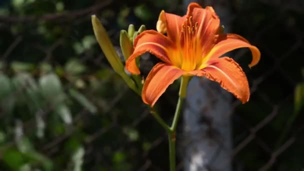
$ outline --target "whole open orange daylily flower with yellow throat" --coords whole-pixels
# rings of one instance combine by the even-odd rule
[[[224,53],[248,47],[252,53],[249,67],[257,64],[260,52],[237,34],[222,33],[219,18],[212,7],[197,3],[188,5],[184,16],[160,12],[156,28],[140,33],[134,40],[134,51],[126,61],[132,74],[140,71],[135,58],[150,52],[163,62],[149,72],[142,88],[143,102],[153,106],[165,89],[181,75],[205,76],[217,81],[242,103],[249,99],[249,86],[241,67]],[[166,35],[162,34],[166,33]]]

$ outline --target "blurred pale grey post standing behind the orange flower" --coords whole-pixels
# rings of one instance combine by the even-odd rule
[[[185,9],[191,1],[194,0],[183,0]],[[200,5],[211,5],[225,32],[230,31],[225,21],[229,22],[232,17],[225,0],[203,0]],[[231,99],[231,94],[217,82],[199,77],[193,77],[189,82],[183,110],[183,133],[178,140],[184,170],[231,170]]]

